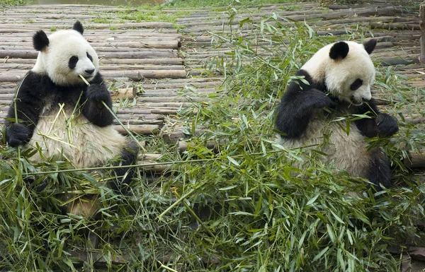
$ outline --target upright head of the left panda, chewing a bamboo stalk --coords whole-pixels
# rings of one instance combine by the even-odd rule
[[[46,74],[53,83],[62,86],[82,85],[98,73],[99,61],[93,47],[83,37],[83,25],[77,20],[72,30],[60,30],[47,37],[39,30],[33,36],[33,45],[39,51],[32,69]]]

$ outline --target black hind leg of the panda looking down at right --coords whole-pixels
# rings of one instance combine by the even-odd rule
[[[376,191],[382,191],[382,187],[390,188],[391,167],[390,160],[379,149],[370,150],[370,165],[368,179],[375,185]]]

